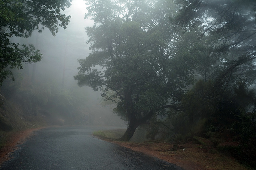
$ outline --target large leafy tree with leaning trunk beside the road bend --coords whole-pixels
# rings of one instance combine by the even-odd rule
[[[79,86],[101,90],[128,121],[121,140],[164,108],[175,107],[189,82],[188,56],[174,57],[178,33],[169,21],[169,0],[88,0],[95,24],[86,27],[92,53],[80,59]],[[110,91],[114,93],[109,93]]]

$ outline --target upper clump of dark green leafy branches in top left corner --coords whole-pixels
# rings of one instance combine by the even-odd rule
[[[44,27],[55,35],[58,26],[65,29],[70,19],[70,16],[61,14],[61,10],[71,6],[69,0],[1,0],[0,3],[1,30],[8,27],[10,36],[29,37],[35,29],[42,31]],[[40,25],[43,27],[40,28]]]

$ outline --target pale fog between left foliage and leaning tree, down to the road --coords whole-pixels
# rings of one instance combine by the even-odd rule
[[[65,124],[68,125],[76,123],[86,125],[126,125],[124,121],[112,112],[113,106],[103,106],[100,92],[94,92],[92,88],[86,86],[78,87],[77,82],[74,80],[79,67],[77,60],[85,59],[90,53],[90,45],[86,44],[88,37],[85,27],[94,24],[92,20],[84,19],[84,14],[86,13],[84,1],[73,0],[72,6],[63,13],[66,16],[71,16],[70,23],[67,29],[59,27],[56,36],[53,36],[45,28],[42,33],[34,31],[32,36],[27,39],[17,37],[11,39],[12,42],[20,44],[33,44],[42,53],[40,62],[23,64],[22,70],[14,70],[14,78],[16,79],[14,83],[22,82],[20,87],[23,90],[29,88],[36,91],[36,88],[39,88],[40,92],[38,94],[40,98],[47,96],[38,100],[39,102],[42,101],[40,104],[36,104],[38,106],[38,111],[36,112],[39,115],[42,114],[49,117],[49,119],[54,119],[48,120],[50,124],[58,124],[59,122],[56,119],[64,119]],[[19,76],[21,74],[22,76]],[[33,82],[33,88],[31,88],[30,82]],[[10,83],[9,79],[5,80],[2,91],[8,89],[8,86],[11,86]],[[47,90],[41,92],[42,89]],[[62,102],[62,105],[66,105],[66,107],[60,108],[61,104],[57,106],[58,103],[54,101],[58,98],[56,97],[57,91],[60,95],[65,95],[67,92],[68,99],[73,100],[68,102],[72,104],[67,106],[65,102]],[[75,94],[79,96],[74,96]],[[5,96],[8,98],[7,92]],[[62,111],[66,113],[62,113]],[[70,121],[70,116],[72,116],[72,121]],[[83,118],[81,119],[81,117]]]

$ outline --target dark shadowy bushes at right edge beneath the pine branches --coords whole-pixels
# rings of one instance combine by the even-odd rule
[[[182,111],[170,111],[168,119],[174,133],[206,135],[217,146],[224,138],[240,136],[242,143],[255,138],[255,92],[236,84],[222,95],[213,82],[199,80],[182,98]],[[253,111],[253,113],[248,113]],[[229,134],[213,135],[213,133]],[[231,133],[232,132],[232,133]],[[211,134],[211,135],[210,135]]]

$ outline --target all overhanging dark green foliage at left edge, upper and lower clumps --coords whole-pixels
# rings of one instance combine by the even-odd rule
[[[61,14],[71,0],[0,0],[0,85],[12,68],[22,69],[22,63],[36,63],[41,54],[33,45],[12,43],[11,37],[30,37],[34,30],[48,28],[53,35],[66,26],[70,16]],[[14,77],[12,76],[14,79]]]

